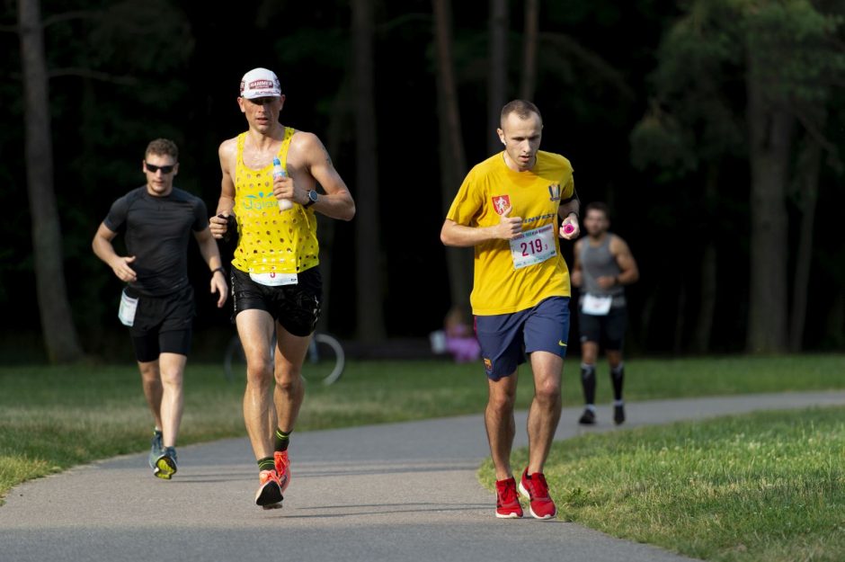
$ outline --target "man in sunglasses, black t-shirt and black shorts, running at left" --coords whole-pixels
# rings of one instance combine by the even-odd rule
[[[209,231],[205,203],[173,187],[179,152],[171,140],[149,143],[142,170],[147,184],[111,205],[93,237],[93,252],[128,283],[120,298],[120,321],[129,326],[144,395],[156,420],[149,463],[156,477],[176,472],[176,436],[182,421],[182,373],[191,350],[193,289],[188,280],[191,232],[211,270],[218,307],[226,302],[226,272]],[[129,255],[111,241],[122,234]]]

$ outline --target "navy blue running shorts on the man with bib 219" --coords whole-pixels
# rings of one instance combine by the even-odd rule
[[[569,340],[569,297],[549,297],[533,308],[511,314],[476,316],[487,378],[511,375],[526,361],[526,353],[566,356]]]

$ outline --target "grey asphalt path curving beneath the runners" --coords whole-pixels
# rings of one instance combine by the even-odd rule
[[[622,427],[834,405],[845,392],[633,403]],[[610,406],[595,428],[580,427],[580,414],[564,409],[556,439],[616,431]],[[521,447],[524,412],[517,424]],[[0,562],[689,560],[527,512],[496,519],[476,479],[488,454],[481,415],[294,433],[284,507],[268,511],[254,505],[246,438],[179,448],[171,481],[151,475],[146,453],[104,460],[13,488],[0,506]]]

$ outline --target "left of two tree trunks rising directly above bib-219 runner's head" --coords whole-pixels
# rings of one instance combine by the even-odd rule
[[[508,80],[508,2],[490,0],[490,22],[487,48],[487,154],[502,150],[496,134],[502,107],[507,103]]]

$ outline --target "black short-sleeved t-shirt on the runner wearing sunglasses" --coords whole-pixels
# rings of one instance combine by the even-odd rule
[[[180,189],[154,197],[144,185],[114,201],[103,221],[112,232],[122,233],[129,266],[138,281],[129,283],[142,295],[161,297],[181,290],[188,280],[188,239],[191,230],[209,227],[205,203]]]

